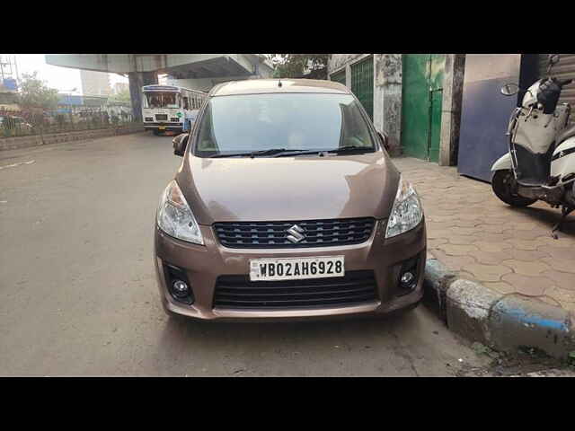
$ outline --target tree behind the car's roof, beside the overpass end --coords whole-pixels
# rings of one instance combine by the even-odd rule
[[[268,54],[275,65],[274,78],[327,79],[330,54]]]

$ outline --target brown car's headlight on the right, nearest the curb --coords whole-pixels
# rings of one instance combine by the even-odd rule
[[[385,238],[391,238],[413,229],[420,223],[422,217],[423,209],[420,198],[411,184],[403,180],[403,176],[401,176],[392,214],[387,222]]]

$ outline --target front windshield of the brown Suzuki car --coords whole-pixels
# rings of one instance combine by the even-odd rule
[[[374,151],[374,140],[349,94],[272,93],[208,101],[194,154],[200,157],[269,150]],[[273,154],[273,152],[271,152]]]

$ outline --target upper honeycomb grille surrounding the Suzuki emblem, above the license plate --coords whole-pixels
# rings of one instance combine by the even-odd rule
[[[288,240],[288,229],[295,224],[304,230],[302,235],[305,237],[296,243]],[[222,245],[235,249],[326,247],[366,242],[374,224],[375,220],[371,217],[293,222],[225,222],[214,224],[214,231]]]

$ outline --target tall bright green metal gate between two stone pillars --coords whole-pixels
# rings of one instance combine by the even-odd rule
[[[439,160],[445,54],[404,54],[402,95],[403,153]]]

